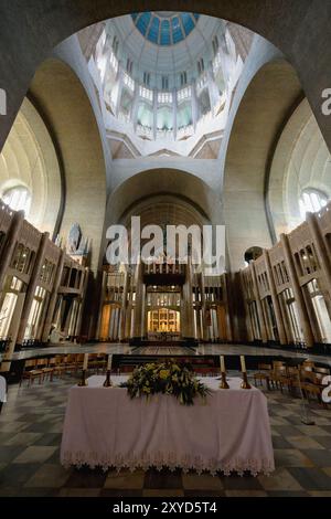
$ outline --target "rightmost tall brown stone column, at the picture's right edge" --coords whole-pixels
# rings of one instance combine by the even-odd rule
[[[308,213],[307,214],[307,223],[309,225],[309,231],[313,239],[313,244],[316,248],[316,253],[318,256],[319,264],[323,271],[324,277],[324,287],[321,287],[325,300],[325,305],[328,308],[329,317],[331,319],[331,260],[328,253],[325,242],[321,234],[319,221],[316,214]],[[323,288],[325,288],[323,290]]]

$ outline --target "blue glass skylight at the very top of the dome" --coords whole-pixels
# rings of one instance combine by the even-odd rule
[[[156,45],[175,45],[195,28],[199,14],[191,12],[140,12],[131,14],[138,31]]]

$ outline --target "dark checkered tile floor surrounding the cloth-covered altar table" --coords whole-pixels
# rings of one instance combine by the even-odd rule
[[[269,477],[65,470],[60,444],[73,383],[68,375],[32,388],[10,388],[0,414],[0,496],[331,497],[331,410],[310,404],[316,425],[303,425],[300,400],[278,391],[266,392],[276,460]]]

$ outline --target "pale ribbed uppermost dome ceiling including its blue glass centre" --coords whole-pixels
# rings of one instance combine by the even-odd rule
[[[212,60],[212,40],[222,28],[223,20],[186,12],[142,12],[107,21],[107,31],[118,35],[136,72],[157,74],[195,71],[201,56]]]

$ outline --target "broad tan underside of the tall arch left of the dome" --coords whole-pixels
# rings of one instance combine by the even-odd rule
[[[99,264],[106,208],[106,169],[102,140],[86,92],[72,68],[49,59],[29,91],[52,133],[64,180],[64,212],[60,235],[73,223],[92,240],[92,269]]]

